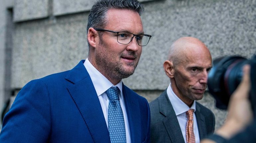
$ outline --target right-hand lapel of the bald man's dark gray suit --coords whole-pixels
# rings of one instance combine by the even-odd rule
[[[197,105],[196,102],[196,110],[195,110],[195,117],[196,117],[196,122],[197,122],[197,127],[199,131],[199,137],[204,138],[207,133],[206,133],[206,125],[205,125],[205,118],[200,112],[200,107]]]

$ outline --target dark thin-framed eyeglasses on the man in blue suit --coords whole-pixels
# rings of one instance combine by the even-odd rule
[[[124,45],[129,44],[132,41],[133,37],[135,37],[139,46],[146,46],[148,44],[150,38],[152,37],[151,35],[147,35],[147,34],[136,35],[136,34],[132,34],[129,32],[115,32],[115,31],[99,29],[99,28],[95,28],[95,30],[116,33],[117,34],[117,42],[120,44],[124,44]]]

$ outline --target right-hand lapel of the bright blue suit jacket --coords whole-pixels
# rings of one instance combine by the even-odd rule
[[[130,127],[131,141],[132,143],[139,143],[141,142],[141,117],[139,111],[139,103],[136,98],[133,98],[133,93],[127,90],[127,87],[125,87],[124,85],[123,96],[125,100],[125,109]]]

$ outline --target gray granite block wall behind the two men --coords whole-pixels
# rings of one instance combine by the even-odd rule
[[[256,54],[256,0],[141,2],[145,5],[141,17],[144,31],[152,39],[143,47],[135,73],[123,82],[149,102],[169,85],[163,62],[171,44],[180,37],[200,39],[213,58],[234,54],[249,58]],[[33,79],[69,70],[87,57],[86,26],[92,5],[90,0],[14,0],[10,90],[17,91]],[[0,8],[7,11],[6,6]],[[7,27],[0,22],[0,36]],[[2,50],[6,38],[0,38],[1,54],[6,55]],[[0,73],[7,66],[0,62]],[[1,74],[0,105],[4,97],[10,96],[3,93],[6,80]],[[199,102],[215,113],[216,128],[223,124],[226,112],[214,107],[208,93]]]

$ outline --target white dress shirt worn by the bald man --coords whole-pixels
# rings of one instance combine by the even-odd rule
[[[193,102],[191,108],[185,104],[174,92],[173,89],[171,87],[171,84],[168,86],[167,88],[167,95],[169,100],[171,101],[171,104],[173,105],[173,109],[175,111],[176,117],[178,119],[178,122],[180,124],[181,127],[181,131],[182,131],[182,135],[184,138],[185,143],[187,143],[187,139],[186,139],[186,126],[187,126],[187,122],[188,122],[188,116],[186,114],[186,112],[189,109],[194,109],[195,112],[195,101]],[[200,138],[199,138],[199,132],[198,132],[198,127],[197,127],[197,122],[196,122],[196,117],[195,117],[195,113],[193,114],[193,127],[194,127],[194,135],[195,135],[195,143],[199,143],[200,142]]]

